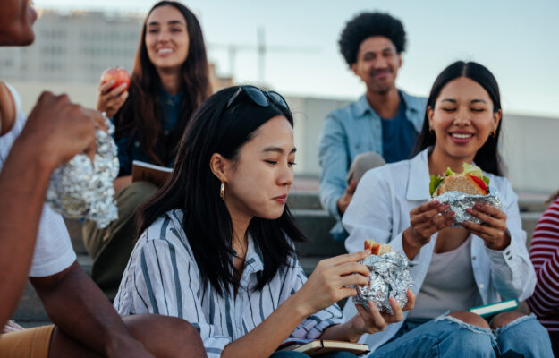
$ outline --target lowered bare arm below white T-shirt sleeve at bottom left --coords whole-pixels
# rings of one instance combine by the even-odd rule
[[[77,262],[50,277],[30,277],[56,327],[107,357],[151,357],[131,337],[106,296]]]

